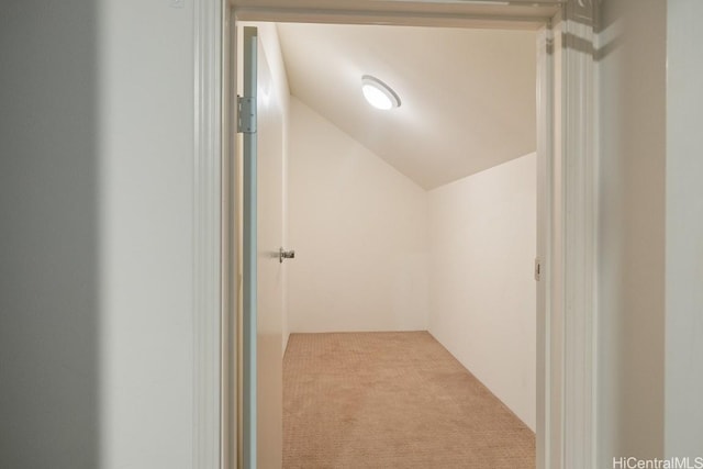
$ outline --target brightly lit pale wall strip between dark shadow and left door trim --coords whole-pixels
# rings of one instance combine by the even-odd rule
[[[192,3],[101,3],[102,467],[192,459]]]

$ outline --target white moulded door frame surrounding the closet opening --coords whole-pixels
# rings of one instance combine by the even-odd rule
[[[301,1],[301,7],[286,9],[238,9],[237,5],[252,2],[237,0],[233,4],[227,0],[193,2],[193,467],[230,469],[236,465],[236,270],[231,216],[232,131],[225,130],[231,130],[234,112],[227,86],[236,66],[230,57],[233,9],[238,19],[246,20],[483,27],[516,21],[525,24],[527,20],[511,14],[510,5],[502,8],[504,14],[496,14],[495,7],[490,7],[490,15],[479,11],[466,16],[443,16],[404,7],[410,3],[399,3],[394,13],[365,10],[365,5],[373,3],[371,0],[347,2],[350,7],[344,11],[334,10],[339,0]],[[437,5],[436,1],[426,3],[427,8]],[[549,52],[538,54],[537,90],[538,175],[544,189],[538,216],[545,234],[537,246],[543,266],[538,314],[544,315],[544,327],[538,330],[537,467],[578,469],[593,466],[596,449],[596,4],[594,0],[550,3],[561,4],[554,18],[542,20],[539,32],[542,51]]]

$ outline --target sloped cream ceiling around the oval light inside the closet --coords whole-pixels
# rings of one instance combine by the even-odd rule
[[[536,33],[278,24],[291,94],[425,189],[535,150]],[[371,108],[361,76],[402,104]]]

